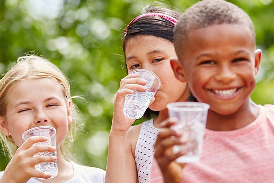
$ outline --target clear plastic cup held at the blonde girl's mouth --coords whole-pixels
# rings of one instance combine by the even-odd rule
[[[43,144],[43,145],[50,145],[50,146],[56,147],[55,134],[56,134],[55,128],[51,126],[39,126],[39,127],[31,128],[25,131],[22,134],[22,138],[26,141],[28,138],[32,136],[46,136],[48,137],[48,140],[46,142],[38,142],[33,144],[33,146]],[[56,150],[55,152],[39,152],[35,154],[33,157],[36,157],[36,156],[57,156],[57,152]],[[57,161],[37,164],[35,165],[35,169],[40,172],[51,174],[51,178],[56,177],[58,174]],[[39,178],[39,179],[43,179],[43,178]]]

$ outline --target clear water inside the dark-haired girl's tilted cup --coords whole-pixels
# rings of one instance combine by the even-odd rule
[[[124,114],[131,119],[140,119],[152,101],[155,92],[134,92],[127,94],[124,104]]]

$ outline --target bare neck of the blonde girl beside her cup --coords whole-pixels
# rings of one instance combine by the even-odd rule
[[[72,164],[67,162],[61,153],[61,148],[57,147],[57,166],[58,166],[58,175],[55,178],[40,180],[35,178],[36,180],[44,183],[57,183],[57,182],[67,182],[74,175],[74,170]]]

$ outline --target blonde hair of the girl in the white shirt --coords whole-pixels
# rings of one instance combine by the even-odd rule
[[[7,90],[20,81],[25,79],[40,79],[52,78],[58,81],[63,86],[64,98],[71,99],[70,84],[64,73],[53,63],[43,57],[35,55],[23,56],[17,59],[13,67],[0,80],[0,116],[6,114],[6,100],[5,95]],[[79,122],[79,112],[77,107],[72,103],[70,108],[72,122],[68,126],[68,133],[61,145],[61,153],[64,158],[71,160],[73,158],[70,153],[70,147],[76,138],[77,131],[82,129],[83,124]],[[3,147],[3,152],[11,159],[17,150],[17,146],[13,142],[11,136],[5,136],[0,133],[0,141]]]

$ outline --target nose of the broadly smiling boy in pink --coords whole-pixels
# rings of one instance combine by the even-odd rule
[[[236,78],[236,73],[229,66],[220,66],[218,72],[215,75],[216,81],[223,83],[230,83]]]

